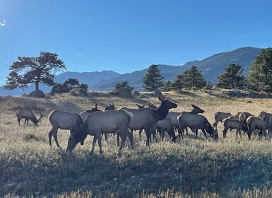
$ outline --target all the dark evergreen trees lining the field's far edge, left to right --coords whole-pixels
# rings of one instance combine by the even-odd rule
[[[64,62],[58,55],[50,52],[40,52],[39,57],[18,57],[16,62],[9,67],[10,73],[6,78],[5,89],[27,88],[35,84],[35,91],[39,91],[40,83],[52,86],[52,93],[81,93],[87,94],[88,85],[80,84],[77,79],[69,78],[64,83],[54,82],[56,72],[66,69]],[[173,81],[162,81],[163,76],[158,66],[153,64],[143,76],[142,86],[145,91],[171,91],[186,89],[211,89],[213,85],[206,81],[201,71],[192,66],[182,74],[177,74]],[[127,81],[117,83],[115,90],[120,87],[133,90]],[[255,57],[248,76],[240,64],[229,64],[223,73],[218,76],[215,84],[218,88],[247,88],[252,91],[272,92],[272,48],[268,47],[259,52]]]

